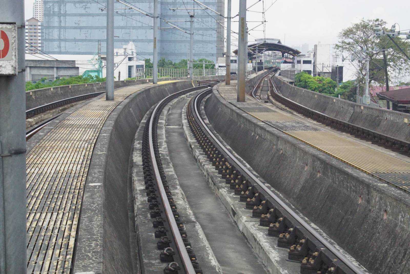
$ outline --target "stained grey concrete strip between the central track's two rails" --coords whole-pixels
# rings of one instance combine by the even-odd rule
[[[177,103],[166,120],[169,157],[180,187],[201,225],[224,273],[266,273],[262,263],[246,242],[229,212],[208,186],[185,141],[182,129],[182,107]]]

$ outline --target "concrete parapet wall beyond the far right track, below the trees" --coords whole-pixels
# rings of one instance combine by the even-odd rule
[[[330,117],[410,142],[410,114],[360,105],[347,100],[294,87],[280,78],[273,81],[286,98]]]

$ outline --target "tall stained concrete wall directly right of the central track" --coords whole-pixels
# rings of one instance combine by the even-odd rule
[[[215,89],[205,111],[241,158],[371,273],[408,272],[408,194],[244,115]]]

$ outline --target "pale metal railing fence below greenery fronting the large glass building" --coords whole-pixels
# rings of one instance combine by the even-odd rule
[[[225,75],[226,69],[194,69],[194,78]],[[158,78],[189,78],[189,69],[158,69]],[[137,69],[135,79],[153,78],[153,69]]]

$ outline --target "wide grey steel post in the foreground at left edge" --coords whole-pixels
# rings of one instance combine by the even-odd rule
[[[6,3],[7,2],[7,3]],[[0,75],[0,273],[27,273],[24,1],[2,1],[17,27],[17,75]],[[11,50],[11,47],[10,47]],[[2,62],[2,61],[0,61]]]

